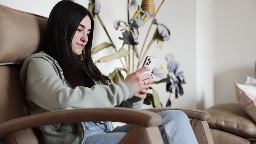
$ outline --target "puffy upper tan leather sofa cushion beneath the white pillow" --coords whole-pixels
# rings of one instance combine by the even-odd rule
[[[256,137],[256,123],[240,104],[217,104],[205,111],[211,115],[207,121],[210,128],[233,133],[243,138]]]

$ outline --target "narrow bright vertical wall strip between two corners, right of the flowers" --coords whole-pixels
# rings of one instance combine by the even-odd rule
[[[215,3],[214,0],[197,0],[196,4],[197,109],[203,110],[214,104]]]

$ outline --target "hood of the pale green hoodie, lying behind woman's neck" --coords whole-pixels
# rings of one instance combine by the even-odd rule
[[[28,64],[29,62],[33,59],[33,58],[43,58],[43,59],[46,59],[47,61],[49,61],[52,65],[54,65],[56,67],[56,65],[58,65],[58,62],[53,59],[51,56],[49,56],[48,54],[46,54],[44,51],[40,51],[38,53],[35,53],[35,54],[32,54],[30,56],[28,56],[24,62],[23,62],[23,65],[21,67],[21,70],[20,70],[20,85],[22,87],[23,90],[25,90],[26,88],[26,79],[27,79],[27,69],[28,69]],[[58,65],[57,66],[58,68],[58,71],[59,72],[62,72],[60,66]],[[63,80],[63,77],[62,77],[62,81]]]

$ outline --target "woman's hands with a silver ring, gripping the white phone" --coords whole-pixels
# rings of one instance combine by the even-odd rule
[[[125,78],[125,81],[127,81],[132,88],[133,96],[136,96],[141,99],[144,99],[146,97],[147,90],[151,86],[151,83],[153,82],[152,80],[153,78],[151,77],[152,76],[151,74],[143,74],[143,75],[141,74],[148,70],[150,70],[149,67],[144,66],[139,70],[137,70],[136,72],[129,74]]]

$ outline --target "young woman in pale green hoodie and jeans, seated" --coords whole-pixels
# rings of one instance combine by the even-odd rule
[[[72,1],[58,2],[47,23],[47,45],[27,57],[20,72],[30,114],[53,110],[130,107],[140,109],[152,75],[148,67],[114,84],[101,74],[91,57],[94,22],[90,12]],[[81,58],[84,61],[81,61]],[[177,110],[159,113],[165,143],[197,143],[188,117]],[[111,122],[80,122],[38,127],[46,144],[114,144],[130,130],[127,124],[113,129]]]

